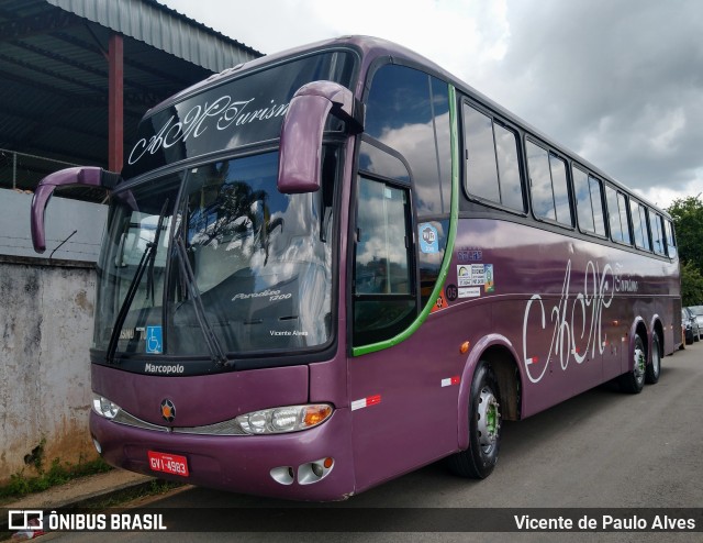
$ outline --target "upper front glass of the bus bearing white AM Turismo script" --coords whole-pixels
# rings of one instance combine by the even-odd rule
[[[123,177],[132,179],[182,159],[275,140],[300,87],[327,80],[350,88],[355,69],[354,53],[327,51],[234,78],[225,74],[214,87],[185,92],[140,123]],[[332,122],[336,124],[328,128],[337,130],[339,121],[331,118]]]

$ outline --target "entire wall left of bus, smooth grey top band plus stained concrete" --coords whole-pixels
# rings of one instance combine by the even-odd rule
[[[0,485],[44,441],[44,467],[97,457],[88,432],[96,269],[105,207],[54,198],[31,248],[30,195],[0,190]],[[74,230],[53,259],[51,252]],[[80,235],[79,235],[80,234]]]

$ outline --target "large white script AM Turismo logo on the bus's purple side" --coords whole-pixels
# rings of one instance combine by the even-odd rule
[[[607,336],[603,334],[603,310],[611,307],[616,292],[639,290],[638,281],[623,277],[621,270],[620,264],[615,264],[615,269],[610,264],[605,264],[601,270],[598,263],[589,261],[583,276],[583,288],[576,295],[571,295],[571,261],[569,259],[561,296],[549,310],[554,330],[546,356],[535,356],[536,345],[528,344],[529,330],[533,330],[535,324],[542,326],[542,330],[547,329],[545,302],[540,295],[532,296],[523,318],[525,373],[532,383],[542,380],[553,356],[559,359],[561,369],[566,372],[571,356],[577,364],[583,364],[589,351],[591,356],[595,356],[596,348],[599,354],[603,354],[607,343]]]

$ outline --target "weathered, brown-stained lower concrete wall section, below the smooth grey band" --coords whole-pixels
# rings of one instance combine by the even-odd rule
[[[3,258],[4,259],[4,258]],[[29,262],[29,261],[27,261]],[[93,266],[0,262],[0,484],[31,464],[93,458],[88,433]]]

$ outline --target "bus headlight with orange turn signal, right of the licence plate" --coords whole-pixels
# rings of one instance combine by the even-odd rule
[[[288,406],[241,414],[236,421],[248,434],[278,434],[322,424],[332,415],[332,406],[327,403]]]

